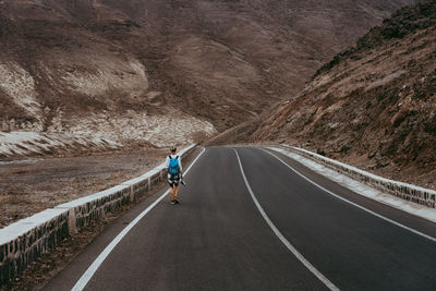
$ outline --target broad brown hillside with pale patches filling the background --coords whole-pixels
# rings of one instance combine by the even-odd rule
[[[199,140],[293,96],[411,2],[1,0],[0,130],[63,144]],[[3,154],[26,153],[8,138]]]

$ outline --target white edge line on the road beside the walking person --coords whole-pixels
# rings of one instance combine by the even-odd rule
[[[203,148],[202,153],[194,159],[191,166],[184,173],[187,173],[192,166],[197,161],[197,159],[203,155],[206,149]],[[144,211],[142,211],[132,222],[129,223],[118,235],[113,239],[113,241],[106,246],[106,248],[101,252],[101,254],[94,260],[94,263],[89,266],[89,268],[82,275],[81,279],[75,283],[75,286],[71,289],[73,291],[81,291],[88,283],[90,278],[93,278],[94,274],[100,267],[101,263],[106,259],[106,257],[112,252],[112,250],[117,246],[117,244],[128,234],[128,232],[146,215],[148,214],[160,201],[162,201],[170,191],[167,190],[157,201],[155,201],[150,206],[147,207]]]

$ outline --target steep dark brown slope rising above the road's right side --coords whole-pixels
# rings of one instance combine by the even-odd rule
[[[287,142],[436,187],[436,1],[400,10],[296,98],[221,138],[231,136]]]

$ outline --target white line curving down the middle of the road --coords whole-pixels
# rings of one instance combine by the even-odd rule
[[[271,228],[274,233],[279,238],[279,240],[288,247],[289,251],[310,270],[312,271],[313,275],[315,275],[328,289],[330,290],[339,290],[332,282],[330,282],[320,271],[318,271],[296,248],[283,237],[283,234],[276,228],[276,226],[272,223],[272,221],[269,219],[267,214],[264,211],[264,208],[262,208],[261,204],[258,203],[256,196],[254,195],[254,192],[252,187],[250,186],[250,183],[245,177],[244,169],[241,163],[241,159],[238,155],[237,149],[234,149],[234,153],[237,153],[237,158],[239,162],[239,167],[241,168],[241,173],[242,178],[244,179],[246,189],[250,192],[250,195],[252,196],[254,204],[256,205],[257,209],[259,210],[261,215],[264,217],[265,221],[268,223],[268,226]]]

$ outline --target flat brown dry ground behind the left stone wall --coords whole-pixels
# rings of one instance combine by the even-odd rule
[[[165,149],[0,161],[0,228],[136,178],[164,162]]]

